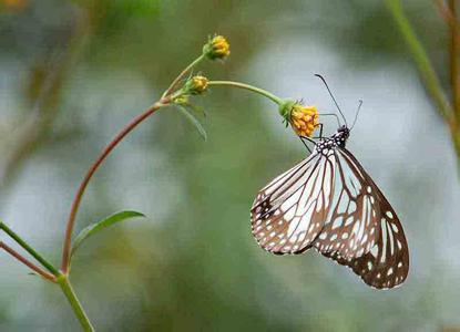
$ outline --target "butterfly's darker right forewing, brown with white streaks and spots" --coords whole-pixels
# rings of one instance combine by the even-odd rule
[[[362,212],[355,214],[347,209],[345,214],[340,214],[336,207],[331,222],[323,231],[330,231],[334,220],[340,216],[345,220],[352,217],[354,222],[340,225],[335,230],[337,238],[343,237],[346,232],[350,234],[350,227],[351,230],[364,227],[364,230],[356,234],[355,242],[351,242],[352,238],[350,237],[348,241],[347,239],[345,242],[340,241],[338,248],[336,248],[336,242],[333,247],[326,246],[327,242],[319,235],[315,247],[324,256],[351,268],[367,284],[377,289],[393,288],[402,283],[409,272],[409,249],[401,222],[384,194],[351,153],[345,148],[337,148],[336,155],[337,165],[341,169],[340,174],[348,173],[352,174],[349,175],[350,177],[354,177],[351,181],[343,178],[344,187],[348,188],[351,183],[360,184],[360,187],[355,187],[357,195],[349,199],[350,201],[355,199],[357,210],[362,209]],[[345,191],[349,195],[352,190],[348,188]],[[343,193],[339,194],[339,197]],[[331,242],[330,237],[326,237],[326,239]],[[360,243],[359,249],[355,246],[357,242]],[[351,248],[351,251],[347,251],[345,248]]]

